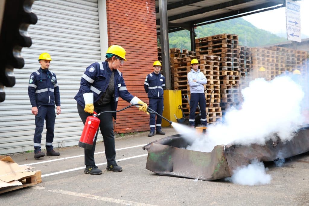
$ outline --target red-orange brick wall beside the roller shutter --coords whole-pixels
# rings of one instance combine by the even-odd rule
[[[119,68],[128,91],[148,102],[144,90],[146,75],[153,71],[152,63],[158,59],[154,0],[107,0],[108,46],[118,44],[125,48],[124,65]],[[129,103],[119,98],[118,108]],[[149,116],[130,107],[117,113],[116,133],[149,130]]]

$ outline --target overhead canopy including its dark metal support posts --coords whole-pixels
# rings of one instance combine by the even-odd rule
[[[189,30],[191,51],[195,51],[195,27],[285,7],[286,0],[155,0],[155,6],[163,75],[171,89],[168,33]]]

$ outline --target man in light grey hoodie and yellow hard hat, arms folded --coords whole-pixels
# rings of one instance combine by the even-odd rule
[[[197,104],[200,103],[201,111],[201,124],[202,126],[207,125],[206,119],[206,99],[204,92],[204,84],[207,83],[205,75],[198,69],[198,60],[193,59],[191,61],[191,71],[188,73],[188,84],[190,86],[190,115],[189,123],[191,127],[195,125],[195,111]]]

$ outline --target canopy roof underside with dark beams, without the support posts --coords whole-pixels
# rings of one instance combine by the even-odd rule
[[[285,6],[286,0],[167,0],[168,31],[214,23]],[[159,0],[155,1],[160,32]]]

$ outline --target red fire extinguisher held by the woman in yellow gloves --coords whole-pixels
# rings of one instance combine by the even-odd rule
[[[93,116],[88,116],[85,122],[85,126],[78,142],[78,146],[83,147],[85,149],[91,149],[93,145],[93,141],[95,139],[95,135],[98,132],[100,120],[96,116],[96,112],[93,112]]]

